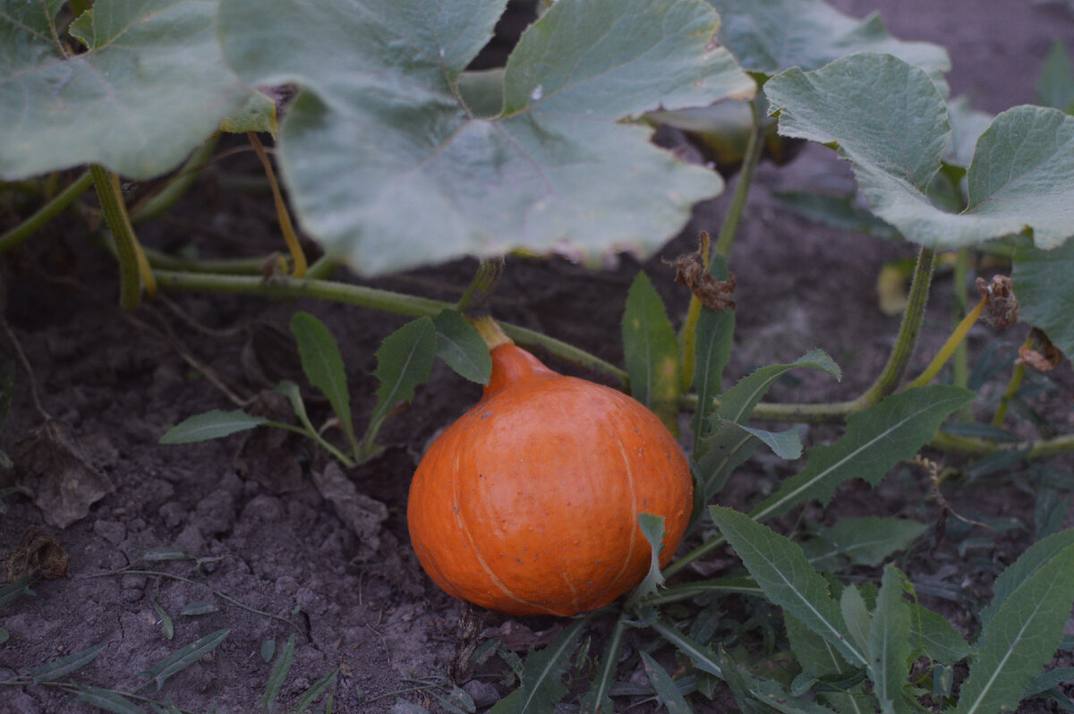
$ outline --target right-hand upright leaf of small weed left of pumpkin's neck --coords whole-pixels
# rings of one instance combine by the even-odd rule
[[[388,413],[400,402],[409,402],[418,385],[429,381],[436,359],[436,325],[429,317],[408,322],[384,338],[377,350],[377,404],[362,438],[361,455],[376,451],[374,440]]]

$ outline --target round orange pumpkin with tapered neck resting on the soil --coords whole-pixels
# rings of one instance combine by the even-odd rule
[[[629,396],[564,377],[514,345],[484,395],[430,446],[410,486],[410,540],[445,592],[513,615],[608,604],[650,566],[639,513],[664,516],[661,565],[693,508],[686,458]]]

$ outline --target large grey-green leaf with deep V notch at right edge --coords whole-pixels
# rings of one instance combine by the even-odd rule
[[[950,137],[929,76],[889,55],[853,55],[814,72],[790,69],[765,85],[780,133],[838,144],[873,212],[934,249],[977,245],[1026,229],[1039,248],[1074,234],[1074,117],[1016,106],[976,142],[969,203],[944,213],[927,195]]]

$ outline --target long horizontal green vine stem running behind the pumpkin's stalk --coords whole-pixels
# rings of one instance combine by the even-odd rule
[[[310,280],[308,278],[261,276],[211,275],[202,273],[180,273],[157,271],[157,283],[162,290],[219,292],[236,295],[258,295],[277,300],[313,297],[348,305],[359,305],[384,312],[408,317],[435,317],[441,310],[454,309],[452,303],[404,293],[348,285],[334,280]],[[590,354],[585,350],[549,337],[539,332],[502,322],[500,326],[512,340],[526,346],[536,346],[567,362],[600,373],[619,385],[625,385],[626,371],[615,365]]]

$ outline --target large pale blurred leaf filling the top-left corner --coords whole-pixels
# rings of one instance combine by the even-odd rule
[[[4,178],[90,162],[157,176],[249,94],[223,62],[216,0],[98,0],[76,41],[57,34],[61,4],[0,0]],[[64,49],[78,41],[86,52]]]

